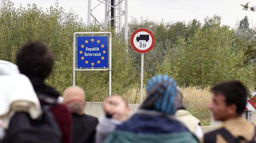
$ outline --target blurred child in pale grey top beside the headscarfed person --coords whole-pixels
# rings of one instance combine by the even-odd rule
[[[108,97],[103,103],[103,110],[105,116],[97,125],[96,143],[103,143],[116,126],[126,121],[130,115],[127,101],[119,95]]]

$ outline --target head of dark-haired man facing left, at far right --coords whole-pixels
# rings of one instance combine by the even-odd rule
[[[247,102],[246,87],[240,81],[227,81],[211,89],[213,98],[209,104],[215,120],[228,120],[241,116]]]

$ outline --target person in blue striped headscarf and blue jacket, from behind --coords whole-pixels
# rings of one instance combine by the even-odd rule
[[[140,110],[118,125],[104,143],[198,143],[175,119],[176,82],[167,75],[154,76],[146,85],[147,98]]]

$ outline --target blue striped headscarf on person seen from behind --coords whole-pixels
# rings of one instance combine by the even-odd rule
[[[176,82],[168,75],[154,76],[146,85],[147,98],[140,108],[174,115],[177,97]]]

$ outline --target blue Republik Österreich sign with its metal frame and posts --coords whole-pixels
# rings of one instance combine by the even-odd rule
[[[104,45],[104,44],[100,43],[100,41],[103,40],[104,37],[106,37],[106,36],[98,36],[99,38],[97,41],[96,41],[96,39],[93,39],[93,37],[95,37],[95,36],[81,36],[81,37],[79,36],[79,38],[81,38],[81,39],[83,39],[83,37],[92,37],[91,42],[94,42],[94,40],[95,40],[95,43],[99,44],[99,47],[93,47],[93,48],[86,47],[84,44],[82,44],[81,48],[84,48],[84,50],[81,50],[79,54],[84,54],[85,56],[94,56],[94,57],[102,55],[102,57],[99,57],[102,60],[104,60],[105,58],[106,58],[106,60],[109,59],[108,68],[105,68],[105,66],[107,66],[106,61],[100,61],[98,59],[98,61],[96,61],[97,64],[100,64],[102,62],[104,67],[102,67],[103,69],[94,69],[93,66],[96,68],[101,68],[101,66],[97,65],[95,61],[94,61],[95,63],[93,62],[94,57],[88,58],[92,61],[91,63],[89,63],[90,60],[89,61],[86,60],[85,57],[83,57],[83,55],[82,55],[82,57],[80,57],[80,58],[81,58],[81,60],[86,60],[86,61],[82,61],[85,63],[81,63],[81,61],[78,62],[78,55],[79,55],[78,52],[77,52],[77,65],[79,63],[80,67],[79,67],[79,69],[78,69],[78,67],[76,68],[76,43],[78,44],[78,42],[76,41],[77,35],[102,35],[102,34],[109,35],[109,58],[106,57],[108,50],[104,50],[102,53],[98,52],[101,50],[101,48],[104,48],[104,46],[108,44],[108,43],[104,43],[105,44]],[[86,39],[85,43],[89,43],[89,40]],[[102,45],[100,45],[100,44],[102,44]],[[77,47],[77,49],[78,49],[78,47]],[[89,52],[92,51],[92,53],[85,53],[85,51],[89,51]],[[106,56],[104,57],[103,54],[106,54]],[[112,34],[110,32],[75,32],[74,33],[74,35],[73,35],[73,85],[76,85],[76,71],[109,71],[109,96],[111,96],[111,87],[112,87],[112,80],[111,80],[112,65],[111,65],[111,63],[112,63]],[[82,68],[89,68],[89,69],[82,69]]]

